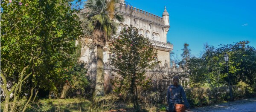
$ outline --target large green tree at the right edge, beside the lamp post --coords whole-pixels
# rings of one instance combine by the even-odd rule
[[[221,45],[217,51],[227,52],[229,55],[228,66],[231,84],[236,85],[243,81],[253,86],[256,92],[256,49],[248,46],[249,43],[249,41],[240,41],[234,44]],[[224,80],[227,81],[227,78]]]

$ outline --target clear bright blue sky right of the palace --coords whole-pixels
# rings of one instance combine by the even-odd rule
[[[188,43],[200,56],[204,43],[218,46],[249,40],[256,48],[256,0],[125,0],[132,6],[162,17],[169,13],[167,40],[180,56]]]

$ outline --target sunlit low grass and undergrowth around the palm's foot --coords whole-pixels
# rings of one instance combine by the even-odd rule
[[[41,99],[31,103],[26,112],[102,112],[116,106],[118,97],[106,95],[88,101],[84,98]]]

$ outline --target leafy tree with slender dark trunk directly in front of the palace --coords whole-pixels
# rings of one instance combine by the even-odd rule
[[[123,29],[116,40],[110,44],[111,65],[116,75],[113,75],[113,85],[116,92],[127,92],[131,95],[134,109],[140,111],[138,103],[138,86],[147,87],[151,78],[145,75],[160,61],[156,60],[157,51],[151,46],[148,38],[138,34],[138,29],[132,26]]]

